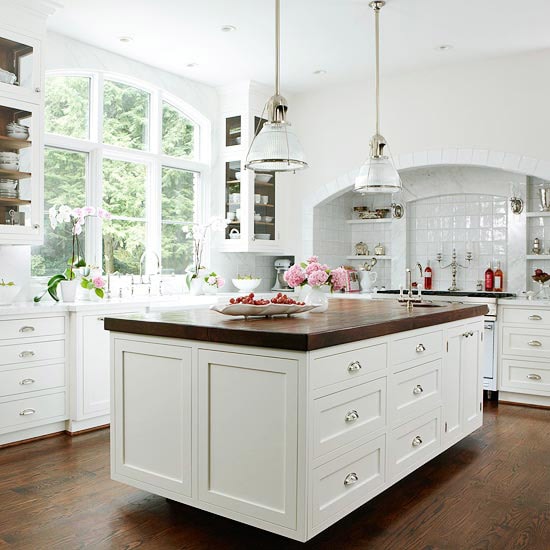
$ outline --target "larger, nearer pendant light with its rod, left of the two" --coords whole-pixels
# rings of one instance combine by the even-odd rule
[[[288,104],[280,93],[281,6],[275,0],[275,95],[267,102],[268,121],[254,136],[245,168],[254,171],[289,172],[307,168],[298,138],[286,120]]]

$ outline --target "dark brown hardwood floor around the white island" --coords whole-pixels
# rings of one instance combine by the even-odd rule
[[[549,550],[550,411],[485,424],[307,544],[109,479],[109,432],[0,450],[0,549]]]

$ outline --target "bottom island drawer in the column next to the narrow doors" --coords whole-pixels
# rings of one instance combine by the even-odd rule
[[[392,478],[404,475],[412,466],[419,466],[439,449],[440,422],[441,411],[437,408],[391,432],[389,452]]]

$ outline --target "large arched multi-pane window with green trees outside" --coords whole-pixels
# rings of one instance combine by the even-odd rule
[[[46,76],[45,238],[32,272],[64,269],[70,242],[50,229],[54,204],[103,207],[113,215],[86,225],[86,260],[106,272],[137,273],[145,249],[165,273],[192,259],[182,227],[201,218],[210,127],[159,88],[101,72]]]

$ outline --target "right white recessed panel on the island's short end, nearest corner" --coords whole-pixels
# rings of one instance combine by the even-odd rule
[[[296,529],[298,364],[199,351],[199,499]]]

